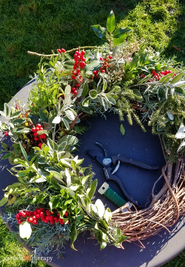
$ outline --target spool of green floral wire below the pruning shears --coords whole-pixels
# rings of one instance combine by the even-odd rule
[[[114,192],[113,189],[111,189],[109,187],[109,184],[106,182],[104,184],[102,184],[102,186],[100,187],[98,192],[101,195],[103,194],[104,196],[106,196],[109,200],[111,200],[118,207],[122,207],[126,203],[129,204],[129,208],[131,208],[131,206],[132,206],[132,204],[130,202],[128,202],[127,200],[125,200],[124,198],[119,196],[116,192]],[[125,209],[123,209],[122,211],[125,212]]]

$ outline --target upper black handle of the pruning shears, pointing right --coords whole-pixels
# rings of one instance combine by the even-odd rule
[[[132,165],[141,167],[141,168],[146,169],[146,170],[158,170],[159,169],[159,166],[149,166],[149,165],[146,165],[146,164],[144,164],[142,162],[126,158],[122,154],[114,155],[114,156],[111,156],[111,157],[112,157],[112,160],[113,160],[114,164],[119,160],[121,162],[130,163]]]

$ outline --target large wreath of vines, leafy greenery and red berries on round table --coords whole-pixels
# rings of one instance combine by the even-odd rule
[[[86,46],[42,56],[37,81],[27,104],[15,99],[4,104],[0,129],[11,138],[2,144],[2,159],[13,165],[17,177],[4,189],[4,221],[19,226],[24,242],[47,254],[54,246],[58,255],[68,239],[71,247],[80,232],[89,230],[101,249],[106,244],[122,247],[124,240],[141,243],[172,226],[184,214],[185,87],[184,67],[174,58],[160,57],[144,40],[127,41],[129,27],[115,30],[111,11],[107,29],[92,26],[105,41],[102,47]],[[145,209],[124,205],[111,213],[92,197],[97,180],[83,159],[73,156],[87,116],[123,115],[135,119],[145,131],[147,120],[159,134],[167,160],[159,179],[164,187]],[[124,134],[124,127],[120,128]],[[126,212],[121,210],[126,208]],[[47,232],[50,235],[47,235]],[[142,243],[141,243],[142,244]]]

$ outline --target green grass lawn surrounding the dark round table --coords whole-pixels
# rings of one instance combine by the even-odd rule
[[[50,54],[58,48],[70,49],[78,45],[101,45],[90,27],[106,25],[111,9],[117,27],[129,26],[133,32],[129,40],[144,38],[145,44],[160,50],[165,57],[175,55],[185,63],[185,1],[184,0],[37,0],[0,2],[0,110],[14,94],[29,81],[37,70],[39,58],[27,50]],[[0,263],[4,256],[25,254],[0,222]],[[8,236],[8,239],[6,237]],[[2,266],[30,266],[27,263],[6,262]],[[37,266],[46,266],[39,262]],[[163,267],[185,266],[181,253]]]

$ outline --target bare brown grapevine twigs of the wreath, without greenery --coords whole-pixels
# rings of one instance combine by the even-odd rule
[[[121,209],[128,206],[126,204],[113,211],[111,224],[116,224],[125,235],[130,237],[127,241],[137,240],[142,245],[142,239],[156,235],[161,230],[164,230],[164,228],[169,231],[168,227],[173,226],[175,222],[177,222],[179,216],[184,215],[184,157],[181,156],[176,164],[167,162],[162,168],[162,174],[158,180],[159,179],[165,179],[165,185],[157,195],[154,195],[152,192],[153,200],[148,208],[140,211],[136,209],[134,212],[128,211],[122,213]]]

